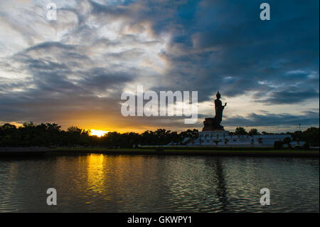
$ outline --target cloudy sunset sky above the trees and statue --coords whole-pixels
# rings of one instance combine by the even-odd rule
[[[198,91],[198,122],[122,116],[137,85]],[[0,0],[0,125],[201,130],[217,91],[225,130],[319,127],[319,1]]]

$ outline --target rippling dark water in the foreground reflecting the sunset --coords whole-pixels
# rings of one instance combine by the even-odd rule
[[[46,204],[55,188],[58,205]],[[260,189],[270,189],[270,206]],[[0,212],[319,212],[319,159],[87,154],[0,159]]]

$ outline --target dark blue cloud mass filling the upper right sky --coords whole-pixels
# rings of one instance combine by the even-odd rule
[[[253,91],[257,98],[270,95],[272,100],[277,90],[297,83],[302,93],[314,90],[316,94],[319,3],[270,1],[270,5],[271,21],[260,21],[260,1],[201,1],[193,24],[177,30],[171,41],[172,48],[179,47],[181,53],[164,53],[173,65],[169,77],[201,90],[200,100],[208,100],[215,90],[230,97]],[[180,31],[187,31],[193,46],[186,36],[178,35]],[[294,70],[304,73],[289,73]],[[318,77],[308,78],[311,72]],[[171,90],[181,90],[186,83],[174,83]],[[277,103],[294,100],[299,102],[279,99]]]

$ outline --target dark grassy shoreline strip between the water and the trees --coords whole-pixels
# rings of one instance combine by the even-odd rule
[[[319,149],[210,149],[209,147],[175,149],[171,147],[157,148],[46,148],[46,147],[1,147],[0,157],[36,157],[43,155],[79,155],[79,154],[127,154],[127,155],[203,155],[203,156],[233,156],[233,157],[319,157]]]

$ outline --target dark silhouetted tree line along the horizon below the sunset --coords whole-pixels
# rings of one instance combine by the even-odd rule
[[[237,127],[230,134],[272,134],[258,132],[251,129],[249,132],[243,127]],[[284,134],[284,133],[283,133]],[[294,141],[305,141],[310,146],[319,146],[319,128],[309,127],[304,132],[286,132]],[[196,139],[198,130],[186,130],[183,132],[171,132],[170,130],[158,129],[145,131],[141,134],[136,132],[107,132],[102,137],[90,134],[90,130],[79,127],[68,127],[62,130],[55,123],[25,122],[21,127],[6,123],[0,125],[0,147],[123,147],[131,148],[137,145],[165,145],[170,142],[186,144],[187,138]]]

